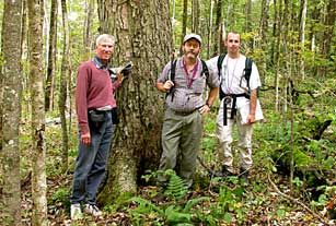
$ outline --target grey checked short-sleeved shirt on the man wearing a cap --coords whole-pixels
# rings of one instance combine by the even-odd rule
[[[195,109],[198,109],[202,105],[205,105],[202,94],[205,92],[206,84],[209,87],[219,86],[218,75],[209,75],[207,80],[206,74],[201,73],[202,63],[200,62],[200,59],[197,60],[197,68],[194,68],[192,71],[188,72],[188,74],[186,74],[182,58],[177,59],[175,78],[173,81],[175,84],[174,97],[172,98],[172,94],[170,94],[165,99],[166,106],[169,108],[181,112],[189,112]],[[158,79],[158,82],[164,83],[165,81],[171,80],[171,62],[169,62],[164,67],[161,76]],[[195,70],[196,73],[194,74]],[[189,79],[187,79],[186,76],[188,76]]]

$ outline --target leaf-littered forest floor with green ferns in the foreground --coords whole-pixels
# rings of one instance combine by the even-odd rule
[[[248,186],[236,177],[204,178],[206,182],[196,183],[178,199],[155,186],[141,187],[128,202],[105,206],[102,218],[77,222],[69,217],[71,179],[69,174],[48,180],[49,225],[334,225],[325,207],[312,213],[302,200],[288,199],[286,195],[291,194],[286,178],[274,178],[276,188],[257,168],[252,169]],[[27,186],[23,191],[23,225],[31,225],[31,207]]]

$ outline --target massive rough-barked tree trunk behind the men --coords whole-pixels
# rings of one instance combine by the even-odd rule
[[[164,95],[155,83],[172,51],[167,0],[117,2],[105,5],[113,13],[105,19],[111,29],[103,32],[116,36],[113,61],[131,60],[135,67],[116,94],[120,123],[115,130],[107,183],[100,195],[103,202],[136,192],[144,170],[158,168]]]

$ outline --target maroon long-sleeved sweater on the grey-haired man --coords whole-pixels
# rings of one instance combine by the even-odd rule
[[[76,109],[81,133],[90,131],[88,109],[105,106],[116,107],[115,91],[120,86],[112,82],[109,73],[90,60],[83,62],[77,73]]]

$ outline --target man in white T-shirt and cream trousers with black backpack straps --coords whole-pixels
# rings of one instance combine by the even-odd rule
[[[248,170],[252,167],[253,123],[263,119],[257,100],[257,88],[262,85],[256,64],[252,63],[251,76],[246,81],[246,57],[240,53],[241,35],[230,32],[225,46],[228,53],[218,67],[218,57],[207,61],[210,73],[220,73],[220,110],[217,116],[217,136],[222,156],[222,173],[219,176],[234,175],[233,142],[234,124],[237,127],[240,151],[240,178],[248,183]]]

